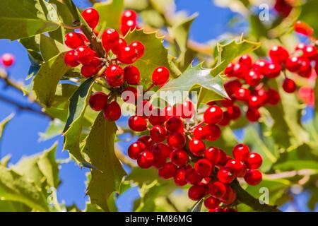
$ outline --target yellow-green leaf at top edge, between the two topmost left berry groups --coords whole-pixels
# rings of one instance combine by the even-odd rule
[[[120,16],[124,11],[123,0],[108,0],[96,3],[94,8],[100,13],[100,24],[106,23],[108,28],[119,30]]]

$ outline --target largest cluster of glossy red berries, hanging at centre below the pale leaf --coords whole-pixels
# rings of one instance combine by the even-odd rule
[[[174,109],[183,112],[190,109],[191,114],[178,116]],[[216,141],[220,137],[217,124],[222,121],[223,110],[216,105],[210,106],[201,123],[184,126],[184,121],[194,114],[192,109],[194,105],[188,101],[166,107],[163,109],[165,114],[158,114],[155,109],[149,117],[131,117],[130,129],[148,130],[149,133],[129,146],[128,155],[143,169],[156,167],[159,177],[173,178],[177,186],[191,184],[189,198],[198,201],[206,196],[204,205],[213,210],[220,203],[229,205],[235,201],[235,191],[229,184],[236,177],[244,177],[250,185],[261,182],[261,172],[257,168],[261,166],[262,158],[257,153],[249,153],[245,144],[233,148],[234,158],[219,148],[207,148],[204,141]]]

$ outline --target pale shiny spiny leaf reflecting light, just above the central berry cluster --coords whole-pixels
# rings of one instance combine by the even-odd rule
[[[169,102],[170,105],[174,105],[178,101],[175,100],[175,98],[170,98],[173,96],[171,94],[181,92],[183,95],[183,92],[189,93],[190,90],[201,87],[213,92],[213,95],[218,99],[228,97],[223,87],[223,79],[220,78],[220,76],[211,76],[211,70],[212,69],[202,69],[201,64],[194,67],[189,66],[181,76],[167,82],[155,95],[157,97],[163,97],[162,95],[166,95],[167,93],[161,93],[162,95],[160,95],[160,92],[169,91],[170,94],[168,95],[167,102]],[[155,97],[155,95],[153,97]]]

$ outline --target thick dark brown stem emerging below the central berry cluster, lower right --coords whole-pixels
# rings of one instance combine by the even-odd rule
[[[279,210],[277,206],[270,206],[265,203],[264,204],[259,203],[259,200],[257,198],[254,198],[247,191],[242,189],[242,186],[240,186],[237,180],[232,182],[230,186],[232,186],[232,189],[235,190],[237,199],[241,203],[244,203],[245,205],[252,207],[254,210],[261,211],[261,212],[281,212],[281,210]]]

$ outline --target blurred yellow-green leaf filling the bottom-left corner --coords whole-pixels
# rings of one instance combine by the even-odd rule
[[[18,201],[38,211],[48,211],[47,200],[42,191],[28,179],[12,169],[0,165],[0,198]]]

